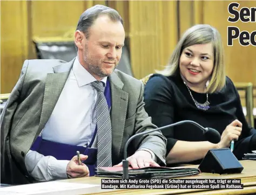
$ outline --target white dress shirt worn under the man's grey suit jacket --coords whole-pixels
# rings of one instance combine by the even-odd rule
[[[102,79],[105,84],[106,80],[107,77]],[[93,81],[96,79],[76,58],[56,106],[41,133],[44,140],[71,145],[88,145],[91,142],[96,128],[97,100],[97,90],[90,84]],[[97,142],[92,147],[95,147],[95,143]],[[153,152],[149,152],[154,159]],[[25,156],[26,169],[38,181],[67,178],[68,163],[69,161],[60,161],[32,150]]]

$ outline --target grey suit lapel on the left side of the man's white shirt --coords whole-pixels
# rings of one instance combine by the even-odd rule
[[[68,63],[53,67],[54,73],[49,73],[46,77],[44,100],[38,127],[38,135],[39,133],[41,133],[46,122],[49,120],[49,117],[51,116],[51,113],[59,99],[59,95],[62,92],[66,80],[68,79],[74,61],[75,59]]]

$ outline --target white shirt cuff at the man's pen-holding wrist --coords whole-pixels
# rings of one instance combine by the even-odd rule
[[[68,164],[69,161],[65,160],[51,161],[49,169],[52,173],[52,177],[55,179],[68,179],[68,175],[66,175],[66,167]]]

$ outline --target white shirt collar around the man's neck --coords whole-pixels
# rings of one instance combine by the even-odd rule
[[[84,85],[87,85],[91,82],[97,81],[78,61],[78,58],[76,57],[74,64],[73,64],[73,73],[75,74],[77,83],[79,87],[82,87]],[[106,86],[106,80],[107,76],[104,77],[101,81],[104,83],[104,86]]]

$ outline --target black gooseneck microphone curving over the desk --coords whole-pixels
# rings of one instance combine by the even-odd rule
[[[136,135],[131,136],[129,138],[129,140],[127,140],[127,142],[125,144],[125,147],[124,147],[124,160],[122,161],[123,162],[123,179],[129,179],[129,174],[128,174],[129,162],[127,161],[127,148],[128,148],[129,143],[135,137],[140,136],[140,135],[149,134],[149,133],[152,133],[153,131],[162,130],[162,129],[173,127],[173,126],[178,126],[178,125],[184,124],[184,123],[194,124],[195,126],[199,127],[201,130],[203,130],[204,136],[207,138],[207,140],[209,142],[212,142],[212,143],[219,143],[220,142],[220,133],[217,130],[215,130],[213,128],[208,128],[208,127],[204,128],[204,127],[200,126],[200,124],[198,124],[194,121],[189,121],[189,120],[179,121],[179,122],[172,123],[172,124],[169,124],[169,125],[164,126],[164,127],[152,129],[152,130],[149,130],[149,131],[146,131],[146,132],[143,132],[143,133],[138,133]]]

